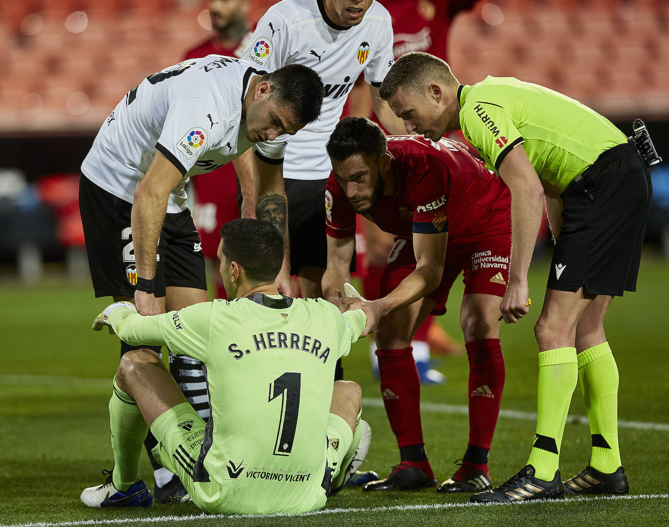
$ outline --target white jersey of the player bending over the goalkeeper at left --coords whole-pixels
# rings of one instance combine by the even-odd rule
[[[263,161],[282,163],[288,135],[253,144],[242,119],[249,80],[264,73],[257,64],[209,55],[147,77],[102,124],[82,173],[132,203],[158,150],[183,176],[167,204],[168,213],[178,213],[187,207],[189,177],[217,169],[251,147]]]

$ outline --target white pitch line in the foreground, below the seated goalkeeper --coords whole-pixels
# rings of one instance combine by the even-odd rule
[[[660,500],[669,498],[669,494],[627,494],[625,496],[573,496],[566,502],[595,502],[595,501],[618,501],[618,500]],[[237,520],[243,518],[255,518],[262,520],[264,518],[302,518],[306,516],[323,516],[328,514],[351,514],[352,512],[393,512],[404,510],[438,510],[438,509],[461,509],[470,507],[495,507],[495,506],[531,506],[542,504],[541,502],[516,502],[513,504],[501,503],[435,503],[435,504],[419,504],[419,505],[393,505],[383,507],[351,507],[343,508],[337,507],[332,509],[320,509],[312,512],[304,512],[303,514],[266,514],[264,516],[254,516],[252,514],[189,514],[188,516],[155,516],[153,518],[120,518],[118,520],[74,520],[72,522],[35,522],[28,524],[10,524],[0,525],[0,527],[70,527],[70,526],[86,526],[86,525],[128,525],[128,524],[151,524],[151,523],[165,523],[165,522],[187,522],[189,520],[198,520],[203,522],[205,520]],[[559,502],[555,502],[559,503]],[[563,502],[565,503],[565,502]]]

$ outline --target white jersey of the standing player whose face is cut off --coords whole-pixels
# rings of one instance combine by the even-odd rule
[[[322,0],[283,0],[260,19],[242,58],[270,71],[303,64],[318,72],[324,84],[320,119],[291,138],[284,177],[327,179],[332,167],[325,144],[353,84],[364,72],[368,84],[380,86],[393,65],[391,18],[374,1],[361,23],[341,27],[326,17]]]

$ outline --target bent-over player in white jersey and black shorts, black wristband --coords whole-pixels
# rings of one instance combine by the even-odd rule
[[[140,314],[205,302],[204,261],[185,183],[252,148],[258,215],[266,208],[285,211],[286,143],[271,140],[316,119],[320,94],[318,74],[304,66],[265,74],[218,55],[182,62],[130,90],[82,164],[80,210],[96,296],[133,299]],[[284,233],[285,219],[274,224]],[[280,288],[290,291],[285,267]],[[122,343],[122,353],[129,349]],[[199,364],[176,370],[194,368]],[[204,384],[199,397],[206,399]]]

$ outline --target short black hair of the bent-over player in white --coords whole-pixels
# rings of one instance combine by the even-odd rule
[[[311,68],[288,64],[262,76],[261,80],[270,83],[270,99],[288,106],[297,122],[309,124],[320,116],[323,82]]]

